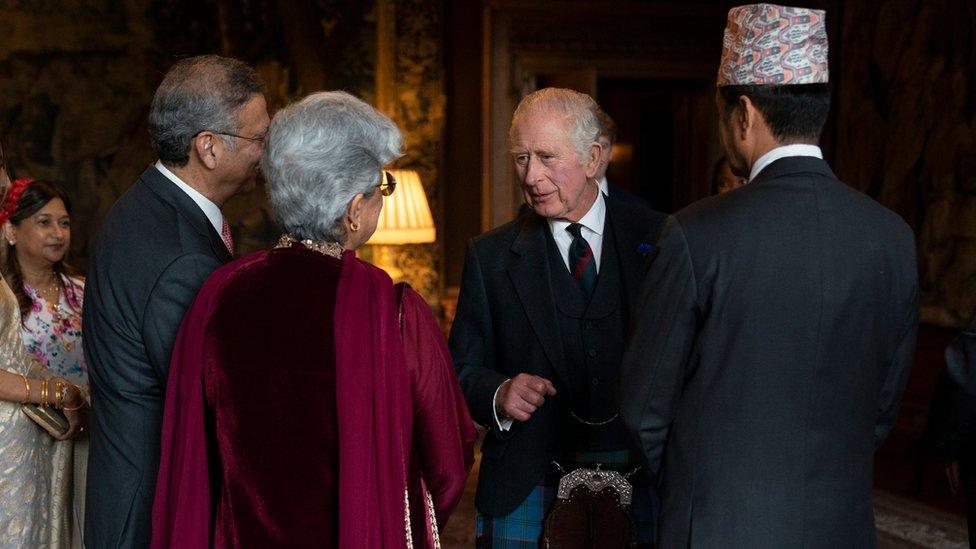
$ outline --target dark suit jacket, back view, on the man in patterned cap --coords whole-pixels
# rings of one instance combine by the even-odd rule
[[[873,546],[873,454],[915,347],[911,230],[791,157],[675,214],[655,252],[620,388],[663,476],[659,545]]]

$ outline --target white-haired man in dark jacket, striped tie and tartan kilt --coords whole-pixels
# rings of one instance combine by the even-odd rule
[[[554,459],[565,470],[640,462],[615,394],[641,253],[664,216],[599,192],[597,110],[565,89],[520,103],[511,141],[531,210],[468,245],[450,345],[471,415],[488,428],[479,547],[539,543]],[[638,484],[638,539],[649,543],[653,496]]]

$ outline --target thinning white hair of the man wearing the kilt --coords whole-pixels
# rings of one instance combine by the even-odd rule
[[[600,121],[598,114],[600,107],[592,97],[585,93],[566,88],[543,88],[525,96],[512,115],[512,125],[508,130],[508,138],[514,147],[515,128],[521,120],[530,113],[542,111],[553,117],[565,118],[569,129],[570,143],[576,149],[580,165],[586,164],[590,156],[590,148],[600,136]]]

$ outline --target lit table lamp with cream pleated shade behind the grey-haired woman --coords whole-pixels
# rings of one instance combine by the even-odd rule
[[[391,246],[426,244],[437,239],[434,218],[430,215],[427,195],[416,170],[387,170],[397,185],[393,194],[383,197],[383,211],[376,231],[366,244],[374,245],[373,263],[390,278],[403,278]]]

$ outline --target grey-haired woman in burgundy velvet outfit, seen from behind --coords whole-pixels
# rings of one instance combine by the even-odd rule
[[[183,320],[153,547],[438,545],[473,424],[427,304],[353,251],[401,144],[342,92],[274,117],[262,167],[285,234],[216,271]]]

